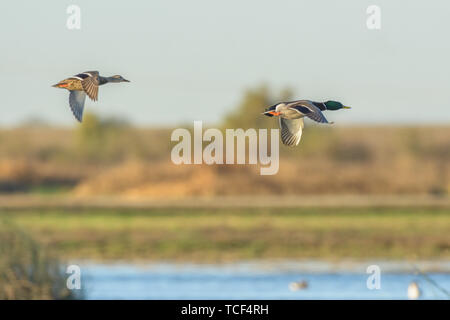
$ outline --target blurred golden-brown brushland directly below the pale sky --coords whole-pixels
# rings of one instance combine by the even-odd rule
[[[257,165],[176,166],[171,132],[113,125],[92,115],[75,129],[0,128],[0,193],[141,199],[450,194],[448,125],[310,126],[297,148],[280,146],[280,169],[273,176],[261,176]]]

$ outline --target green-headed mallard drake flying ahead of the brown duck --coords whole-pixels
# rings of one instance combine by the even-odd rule
[[[350,109],[337,101],[315,102],[296,100],[279,102],[263,113],[268,117],[278,116],[281,127],[281,141],[287,146],[296,146],[302,137],[303,118],[308,117],[319,123],[330,123],[323,115],[325,110]]]

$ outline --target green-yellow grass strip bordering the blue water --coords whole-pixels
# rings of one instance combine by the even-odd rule
[[[2,209],[69,259],[450,258],[449,208]]]

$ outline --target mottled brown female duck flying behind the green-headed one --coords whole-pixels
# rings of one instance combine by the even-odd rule
[[[69,94],[69,105],[72,113],[78,121],[83,119],[84,101],[86,95],[93,101],[98,99],[98,86],[109,82],[130,82],[122,76],[102,77],[98,71],[86,71],[73,77],[61,80],[53,85],[55,88],[67,89]]]

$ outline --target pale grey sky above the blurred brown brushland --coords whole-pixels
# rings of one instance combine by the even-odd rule
[[[71,4],[81,30],[66,27]],[[372,4],[380,30],[366,27]],[[8,1],[1,12],[1,126],[74,125],[68,92],[51,85],[88,70],[131,82],[102,86],[87,111],[138,125],[220,121],[261,83],[352,106],[327,114],[336,123],[450,123],[445,0]]]

